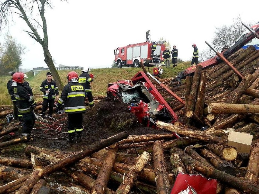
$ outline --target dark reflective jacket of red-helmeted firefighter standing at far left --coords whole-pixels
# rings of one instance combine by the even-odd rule
[[[21,83],[17,83],[17,86],[13,86],[13,91],[19,114],[26,114],[31,112],[31,104],[34,102],[34,99],[33,96],[29,94],[26,87]]]

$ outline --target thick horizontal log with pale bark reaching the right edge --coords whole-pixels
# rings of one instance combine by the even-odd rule
[[[256,114],[259,113],[259,105],[210,103],[208,105],[208,113],[239,115]]]

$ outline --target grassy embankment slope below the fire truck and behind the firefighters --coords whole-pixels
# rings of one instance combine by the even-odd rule
[[[161,78],[173,77],[178,74],[178,72],[183,71],[184,69],[190,66],[190,61],[178,64],[176,68],[164,68],[164,72]],[[147,70],[152,74],[153,67],[147,67]],[[94,81],[92,82],[92,93],[94,96],[97,95],[106,95],[106,89],[108,83],[116,82],[118,80],[130,79],[132,78],[138,71],[142,71],[141,68],[105,68],[105,69],[91,69],[91,73],[95,75]],[[61,81],[67,84],[67,73],[69,70],[60,70],[58,74],[60,75]],[[80,70],[76,70],[76,72],[81,74]],[[32,72],[26,73],[29,77],[26,81],[29,82],[29,85],[33,89],[34,95],[42,95],[40,92],[40,84],[46,79],[47,71],[41,71],[39,74],[33,76]],[[11,78],[11,76],[1,77],[0,81],[0,106],[3,104],[12,104],[10,96],[8,94],[6,84],[7,81]],[[36,101],[42,101],[42,97],[36,97]]]

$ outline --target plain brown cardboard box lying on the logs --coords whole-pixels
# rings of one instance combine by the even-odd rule
[[[228,135],[228,146],[237,148],[238,153],[250,153],[253,136],[249,133],[230,131]]]

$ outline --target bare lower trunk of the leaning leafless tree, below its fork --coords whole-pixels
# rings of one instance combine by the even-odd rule
[[[57,87],[59,88],[60,91],[62,91],[64,88],[64,85],[63,85],[63,83],[59,77],[59,74],[57,72],[57,69],[55,68],[55,65],[53,63],[53,59],[52,59],[52,56],[51,56],[49,48],[48,48],[48,43],[43,43],[41,46],[43,48],[43,53],[44,53],[44,57],[45,57],[44,61],[47,64],[47,66],[49,67],[50,72],[51,72],[54,80],[57,83]]]

